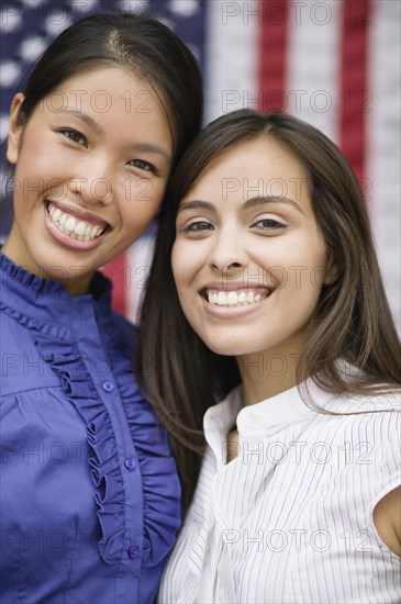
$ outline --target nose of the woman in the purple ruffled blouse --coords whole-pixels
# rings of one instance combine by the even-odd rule
[[[80,166],[76,177],[70,179],[70,191],[83,203],[110,205],[113,187],[105,159],[88,160]]]

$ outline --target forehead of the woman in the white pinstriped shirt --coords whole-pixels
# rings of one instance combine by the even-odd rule
[[[186,193],[248,199],[255,195],[309,197],[301,161],[268,135],[237,143],[210,161]]]

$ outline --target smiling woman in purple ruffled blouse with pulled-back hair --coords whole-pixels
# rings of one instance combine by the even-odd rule
[[[198,132],[188,48],[157,21],[65,32],[11,105],[14,222],[0,254],[0,600],[152,603],[180,524],[134,328],[98,272],[159,209]]]

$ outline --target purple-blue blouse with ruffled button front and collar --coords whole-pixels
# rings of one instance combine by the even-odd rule
[[[155,600],[180,486],[110,300],[0,254],[0,602]]]

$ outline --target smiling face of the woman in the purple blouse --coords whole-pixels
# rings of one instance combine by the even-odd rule
[[[148,82],[116,67],[67,80],[23,127],[21,102],[10,120],[14,223],[3,253],[82,293],[157,212],[172,156],[168,118]]]

